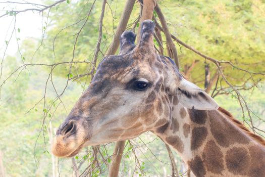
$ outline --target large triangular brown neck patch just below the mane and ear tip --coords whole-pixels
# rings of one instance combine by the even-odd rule
[[[210,131],[220,146],[228,147],[234,143],[247,144],[250,139],[247,135],[236,127],[232,122],[229,122],[218,111],[209,111]]]

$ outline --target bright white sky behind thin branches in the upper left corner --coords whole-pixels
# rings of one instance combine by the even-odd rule
[[[26,1],[14,1],[14,2],[22,2],[25,3]],[[27,1],[27,2],[34,2],[43,4],[43,1]],[[6,1],[0,1],[0,16],[5,14],[7,10],[23,10],[32,8],[29,5],[9,5]],[[38,12],[27,11],[17,15],[16,20],[16,31],[17,31],[17,38],[20,38],[18,43],[20,44],[23,39],[26,38],[40,38],[42,36],[41,31],[41,20],[42,16]],[[6,50],[6,41],[10,39],[12,31],[14,29],[14,16],[5,16],[0,18],[0,57],[3,58],[4,52]],[[20,32],[18,32],[18,28]],[[17,42],[15,33],[9,43],[8,49],[6,51],[7,55],[14,56],[18,51]]]

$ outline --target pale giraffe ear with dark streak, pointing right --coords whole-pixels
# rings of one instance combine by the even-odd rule
[[[180,103],[189,109],[217,110],[218,104],[197,85],[181,79],[177,87],[177,96]]]

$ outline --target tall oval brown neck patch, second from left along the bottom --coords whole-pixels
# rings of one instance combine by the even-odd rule
[[[225,167],[223,154],[213,140],[206,143],[202,153],[202,161],[207,171],[222,174]]]

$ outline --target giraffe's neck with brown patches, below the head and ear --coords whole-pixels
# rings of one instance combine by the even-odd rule
[[[265,176],[265,148],[220,111],[172,103],[172,116],[154,133],[171,145],[196,176]]]

